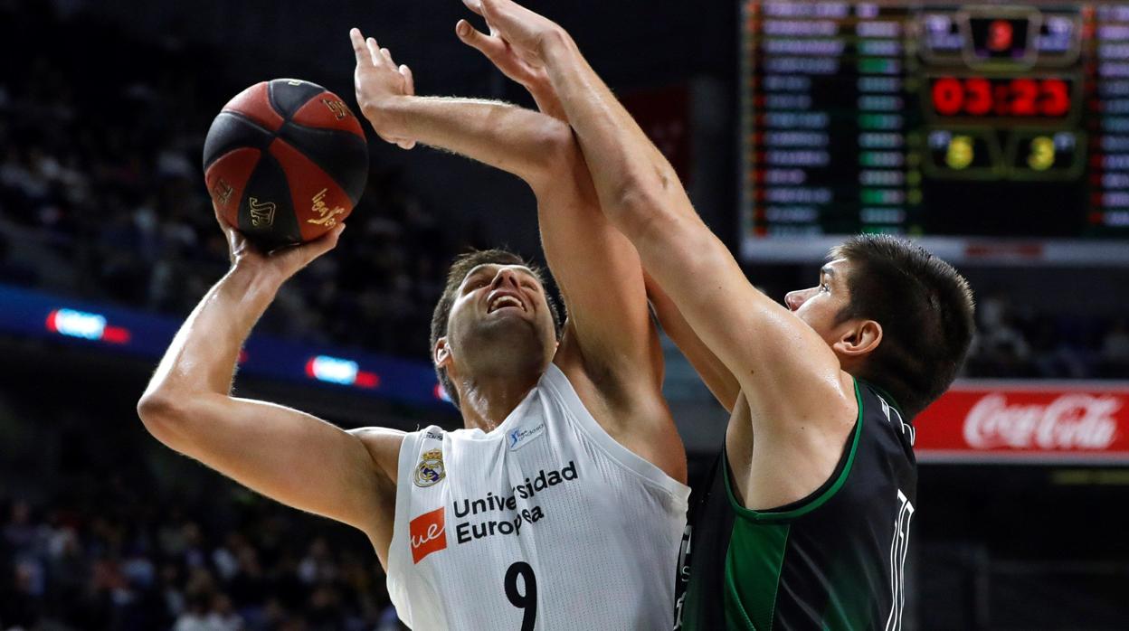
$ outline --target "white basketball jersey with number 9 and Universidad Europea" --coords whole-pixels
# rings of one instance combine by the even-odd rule
[[[388,594],[418,631],[669,629],[690,489],[550,365],[497,429],[409,433]]]

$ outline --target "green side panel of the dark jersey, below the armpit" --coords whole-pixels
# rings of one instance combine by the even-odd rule
[[[772,629],[780,569],[790,529],[788,524],[733,523],[729,549],[725,554],[726,629]]]

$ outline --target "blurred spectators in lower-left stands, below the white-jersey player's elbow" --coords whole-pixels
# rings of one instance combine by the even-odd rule
[[[364,537],[330,524],[330,534],[310,532],[320,524],[250,496],[227,502],[230,523],[215,519],[218,505],[141,503],[133,492],[103,499],[100,509],[0,501],[0,629],[402,628]]]

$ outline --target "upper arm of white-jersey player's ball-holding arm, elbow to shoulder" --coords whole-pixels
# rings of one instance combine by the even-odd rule
[[[384,473],[365,444],[305,412],[200,394],[155,435],[177,452],[287,506],[366,532],[374,517],[379,518],[376,502],[385,487],[380,484]]]

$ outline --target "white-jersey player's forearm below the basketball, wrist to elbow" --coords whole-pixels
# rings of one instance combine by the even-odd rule
[[[270,272],[233,268],[196,305],[176,333],[146,396],[159,393],[229,394],[239,349],[280,281]]]

